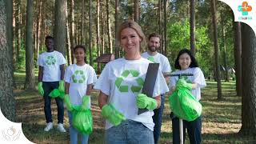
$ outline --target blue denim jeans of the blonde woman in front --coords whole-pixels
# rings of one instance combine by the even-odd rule
[[[154,144],[153,131],[130,119],[105,131],[106,144]]]

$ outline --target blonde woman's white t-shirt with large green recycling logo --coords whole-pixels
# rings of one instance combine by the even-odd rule
[[[146,71],[150,62],[146,58],[138,60],[126,60],[119,58],[106,64],[102,74],[98,78],[94,89],[101,90],[109,96],[108,102],[125,115],[127,119],[142,122],[150,130],[154,130],[152,116],[153,110],[138,115],[136,97],[142,93],[142,87],[146,77]],[[162,72],[158,70],[158,76],[154,85],[153,97],[169,91]],[[113,125],[106,120],[106,129]]]

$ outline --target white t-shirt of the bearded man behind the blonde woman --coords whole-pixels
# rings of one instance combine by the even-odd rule
[[[159,63],[160,70],[162,73],[170,73],[171,68],[170,68],[170,62],[166,56],[163,54],[157,53],[154,56],[151,56],[147,52],[142,53],[142,57],[150,60],[151,62],[154,63]]]

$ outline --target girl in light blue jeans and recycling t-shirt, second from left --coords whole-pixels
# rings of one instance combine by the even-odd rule
[[[86,64],[86,48],[84,46],[78,45],[74,47],[74,57],[77,63],[66,68],[64,78],[66,82],[65,99],[66,97],[70,98],[72,106],[81,106],[87,109],[90,108],[90,91],[97,77],[94,68]],[[84,97],[89,97],[88,106],[82,106],[82,102],[85,99]],[[81,134],[74,128],[72,123],[74,115],[70,110],[68,111],[68,116],[70,123],[70,143],[77,144],[81,142],[82,144],[87,144],[89,135]],[[81,136],[81,140],[78,140],[78,135]]]

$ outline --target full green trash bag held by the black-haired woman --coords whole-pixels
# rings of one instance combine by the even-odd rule
[[[202,105],[194,98],[190,90],[182,88],[174,90],[169,97],[170,110],[178,117],[188,122],[194,121],[202,114]]]

